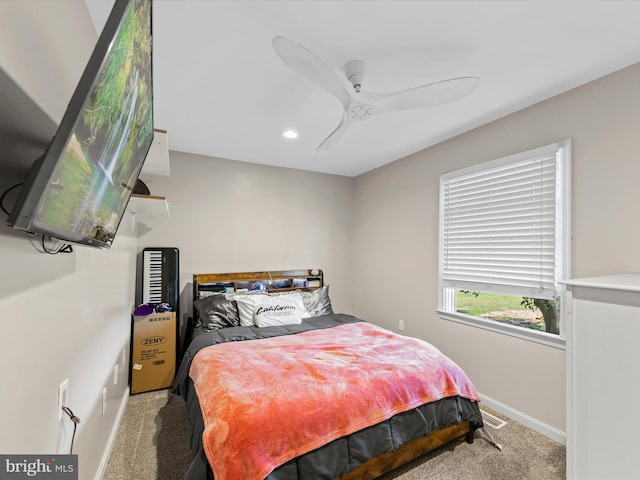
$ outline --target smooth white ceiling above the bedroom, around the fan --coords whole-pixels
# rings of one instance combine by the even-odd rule
[[[86,1],[101,31],[113,1]],[[356,176],[640,62],[639,24],[632,0],[155,0],[155,125],[171,150]],[[354,124],[314,156],[343,107],[280,60],[275,36],[338,75],[365,61],[366,91],[482,80],[455,103]]]

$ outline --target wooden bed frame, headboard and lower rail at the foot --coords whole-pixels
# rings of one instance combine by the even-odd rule
[[[206,273],[193,276],[193,299],[206,291],[266,290],[282,292],[310,290],[324,285],[322,270],[279,270],[266,272]],[[341,475],[337,480],[373,480],[399,466],[421,457],[448,443],[473,443],[474,428],[468,421],[442,428],[402,445],[394,452],[369,459],[360,467]]]

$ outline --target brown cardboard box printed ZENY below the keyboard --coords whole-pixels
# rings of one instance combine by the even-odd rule
[[[176,374],[176,314],[133,316],[131,393],[171,386]]]

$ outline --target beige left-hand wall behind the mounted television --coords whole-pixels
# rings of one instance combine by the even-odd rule
[[[17,84],[18,88],[11,88],[12,95],[17,91],[23,96],[11,99],[23,107],[21,111],[0,115],[6,120],[20,116],[15,113],[37,112],[45,120],[34,118],[34,129],[51,120],[58,123],[96,39],[84,2],[0,1],[0,73],[3,79],[12,79],[13,86]],[[4,94],[0,91],[0,98]],[[0,103],[11,104],[4,99]],[[40,132],[29,130],[28,125],[24,134],[12,132],[16,138],[11,140],[28,145],[26,149],[40,148],[38,154],[42,153]],[[0,139],[11,137],[3,135]],[[3,168],[15,159],[4,158],[1,143],[3,192],[8,187]],[[24,174],[33,160],[26,158]],[[47,255],[38,253],[27,235],[10,230],[4,221],[2,214],[0,452],[69,453],[73,424],[68,418],[57,420],[57,388],[68,378],[68,406],[82,420],[74,443],[79,478],[93,479],[104,465],[126,399],[128,360],[122,352],[128,357],[135,232],[122,228],[109,251],[76,247],[71,255]],[[129,216],[125,223],[131,225]],[[120,375],[114,385],[116,365]],[[103,388],[107,389],[104,415]]]

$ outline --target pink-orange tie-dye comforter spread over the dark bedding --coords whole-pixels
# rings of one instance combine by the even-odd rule
[[[432,345],[369,323],[201,350],[190,376],[216,480],[263,479],[336,438],[427,402],[479,401]]]

